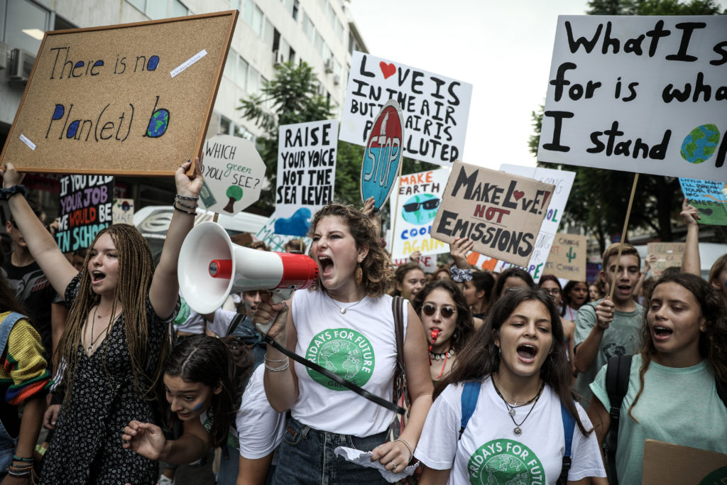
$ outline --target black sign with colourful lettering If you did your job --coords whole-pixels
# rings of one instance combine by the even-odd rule
[[[60,179],[60,220],[55,237],[62,252],[91,246],[113,221],[113,177],[68,175]]]

